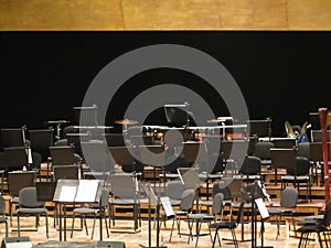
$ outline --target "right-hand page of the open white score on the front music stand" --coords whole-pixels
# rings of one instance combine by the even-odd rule
[[[78,203],[95,202],[97,190],[98,190],[98,181],[81,180],[75,202],[78,202]]]

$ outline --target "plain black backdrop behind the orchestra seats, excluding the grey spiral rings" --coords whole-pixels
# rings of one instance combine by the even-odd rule
[[[330,32],[0,32],[0,127],[73,121],[73,107],[82,105],[90,82],[106,64],[134,48],[161,43],[192,46],[218,60],[239,85],[250,119],[270,117],[274,136],[284,132],[285,120],[302,125],[309,112],[330,107]],[[120,88],[106,122],[120,119],[140,90],[189,82],[194,82],[192,88],[207,99],[215,116],[227,114],[220,96],[195,75],[153,69]],[[149,122],[162,122],[160,115],[157,111]]]

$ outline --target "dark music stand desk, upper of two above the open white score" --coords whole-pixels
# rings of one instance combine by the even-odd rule
[[[70,165],[75,163],[74,150],[71,145],[50,147],[52,165]]]

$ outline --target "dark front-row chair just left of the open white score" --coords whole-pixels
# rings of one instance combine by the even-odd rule
[[[45,202],[39,202],[36,200],[36,188],[24,187],[19,193],[19,208],[17,211],[18,215],[18,236],[21,236],[21,216],[35,216],[35,228],[40,225],[40,216],[45,216],[46,226],[46,238],[49,238],[49,212],[45,207]]]

